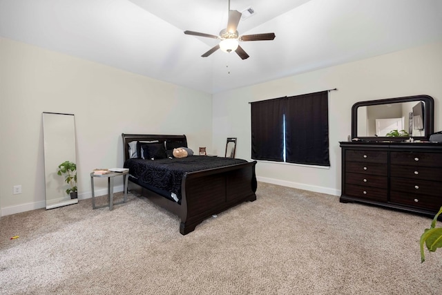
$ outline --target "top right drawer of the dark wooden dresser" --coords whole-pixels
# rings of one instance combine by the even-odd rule
[[[390,153],[390,164],[441,167],[442,153],[392,151]]]

